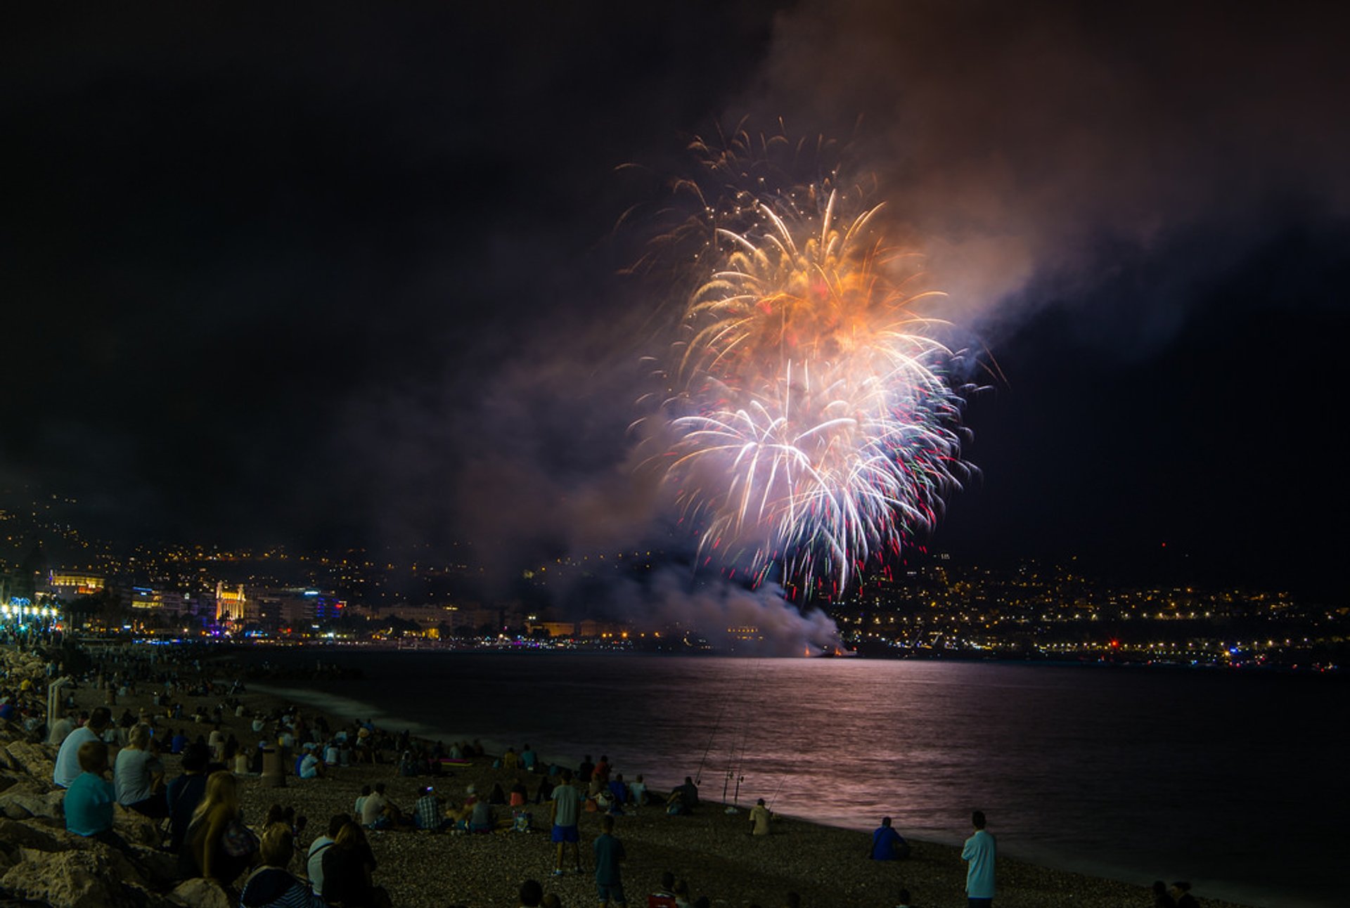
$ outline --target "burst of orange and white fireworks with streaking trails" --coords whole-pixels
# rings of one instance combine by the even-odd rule
[[[707,240],[664,372],[663,482],[702,563],[834,594],[930,532],[969,470],[956,353],[925,314],[944,294],[837,171],[772,190],[733,151],[706,158],[755,190],[699,194]]]

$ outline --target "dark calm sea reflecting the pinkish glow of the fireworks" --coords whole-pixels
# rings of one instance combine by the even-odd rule
[[[362,668],[293,698],[394,730],[609,754],[657,788],[999,849],[1202,897],[1345,905],[1345,679],[871,660],[321,650]],[[269,653],[313,661],[315,650]],[[734,780],[728,799],[736,793]]]

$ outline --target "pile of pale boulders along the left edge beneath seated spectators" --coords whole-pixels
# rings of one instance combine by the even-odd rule
[[[0,652],[8,689],[27,679],[35,695],[46,692],[42,658]],[[36,741],[36,733],[20,723],[0,725],[0,904],[228,908],[230,900],[215,884],[174,880],[174,857],[159,849],[162,835],[154,820],[117,805],[113,832],[123,847],[68,832],[65,789],[51,783],[57,747]]]

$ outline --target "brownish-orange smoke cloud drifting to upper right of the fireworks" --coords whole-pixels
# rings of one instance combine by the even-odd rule
[[[809,0],[778,20],[741,104],[788,130],[852,132],[896,231],[986,335],[1088,295],[1122,258],[1192,243],[1111,332],[1156,347],[1184,320],[1174,290],[1291,215],[1346,215],[1338,18],[1328,4]]]

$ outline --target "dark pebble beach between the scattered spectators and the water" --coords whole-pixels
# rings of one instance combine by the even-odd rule
[[[209,671],[209,669],[208,669]],[[228,683],[227,679],[221,679]],[[104,703],[101,691],[81,687],[74,692],[78,708]],[[219,698],[216,698],[219,700]],[[271,714],[286,704],[273,696],[244,692],[239,698],[246,714]],[[208,698],[198,702],[205,703]],[[189,700],[192,706],[196,702]],[[113,715],[124,708],[132,712],[154,711],[148,693],[117,699]],[[302,710],[308,718],[315,714]],[[159,719],[161,727],[185,727],[189,737],[205,734],[211,726],[185,720]],[[336,722],[333,727],[339,727]],[[227,712],[223,727],[232,731],[244,746],[255,746],[258,735],[248,718]],[[170,731],[171,734],[171,731]],[[595,742],[595,751],[605,742]],[[308,818],[301,846],[321,835],[335,814],[351,814],[362,785],[385,783],[390,800],[404,811],[425,785],[433,785],[452,805],[464,799],[467,785],[486,793],[495,783],[509,789],[524,777],[533,800],[539,777],[524,772],[494,769],[494,757],[475,757],[468,765],[448,766],[439,777],[400,776],[396,754],[386,751],[386,762],[331,768],[325,777],[301,780],[288,774],[284,787],[271,787],[256,776],[240,777],[244,819],[258,823],[271,804],[293,807]],[[166,777],[178,774],[178,758],[166,754]],[[644,766],[614,766],[626,778],[651,772]],[[828,796],[828,793],[822,795]],[[517,905],[517,892],[525,880],[537,880],[545,893],[555,893],[563,905],[595,904],[594,877],[590,870],[590,842],[599,834],[601,814],[582,815],[582,873],[568,870],[552,876],[554,846],[548,834],[548,805],[532,805],[533,831],[498,831],[487,835],[424,832],[409,827],[370,832],[378,859],[375,882],[385,886],[397,908],[471,908]],[[501,811],[500,811],[501,812]],[[998,835],[996,814],[990,831]],[[838,908],[884,908],[898,904],[902,888],[909,889],[911,904],[957,908],[965,905],[965,863],[952,846],[914,841],[913,854],[905,861],[868,859],[871,836],[792,818],[775,818],[771,834],[749,835],[745,810],[729,814],[725,805],[703,800],[690,816],[667,816],[657,805],[629,810],[616,818],[614,834],[624,842],[628,859],[624,886],[628,904],[645,904],[647,895],[659,888],[664,872],[687,881],[693,899],[707,896],[713,905],[728,908],[780,908],[788,893],[801,896],[803,905]],[[905,830],[900,830],[905,834]],[[302,874],[302,855],[293,868]],[[1153,904],[1150,881],[1127,884],[999,858],[1000,908],[1044,908],[1046,905],[1083,905],[1085,908],[1125,908]],[[1204,905],[1224,908],[1234,903],[1204,899]]]

